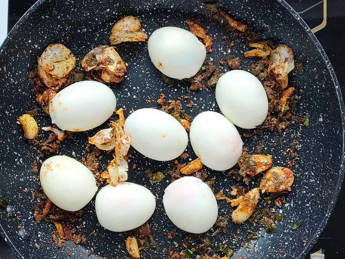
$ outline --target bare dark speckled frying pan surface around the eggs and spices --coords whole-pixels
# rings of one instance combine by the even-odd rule
[[[287,3],[276,0],[261,0],[259,4],[257,1],[223,1],[221,8],[235,19],[250,22],[256,31],[263,32],[268,39],[292,47],[296,62],[305,65],[304,74],[293,72],[289,75],[290,83],[295,86],[299,96],[295,115],[305,116],[308,113],[310,125],[299,136],[299,125],[292,124],[284,134],[265,131],[256,138],[242,137],[244,146],[250,152],[255,150],[260,140],[264,140],[264,153],[273,154],[275,166],[286,165],[288,156],[284,156],[283,152],[288,152],[292,140],[298,138],[293,190],[286,197],[287,205],[281,209],[285,215],[284,221],[278,223],[274,234],[267,234],[265,230],[253,227],[250,223],[237,226],[230,222],[224,234],[210,237],[213,252],[219,243],[224,243],[235,251],[234,258],[304,258],[325,227],[343,181],[344,103],[340,88],[321,45]],[[112,25],[127,15],[139,17],[148,36],[159,28],[159,24],[187,29],[185,19],[200,19],[201,25],[208,27],[214,42],[213,51],[207,54],[207,59],[212,58],[216,63],[229,55],[225,51],[231,41],[235,42],[235,46],[230,55],[243,57],[243,51],[247,49],[244,40],[236,42],[224,27],[210,19],[200,1],[39,0],[34,4],[11,30],[1,47],[0,55],[0,197],[7,198],[12,209],[19,215],[16,221],[12,221],[6,211],[0,211],[0,233],[18,257],[69,258],[69,253],[72,258],[124,258],[128,255],[124,234],[107,231],[97,222],[94,199],[85,207],[82,218],[75,223],[77,231],[86,237],[86,244],[74,248],[74,244],[67,241],[65,249],[57,249],[53,244],[47,243],[47,240],[52,240],[50,233],[54,230],[53,226],[46,222],[37,224],[31,209],[36,204],[31,192],[41,192],[39,180],[33,178],[31,173],[32,163],[35,160],[42,162],[47,157],[38,157],[37,151],[23,138],[20,126],[16,124],[18,116],[25,111],[34,107],[41,111],[34,102],[27,79],[36,64],[37,56],[41,55],[47,45],[58,42],[65,44],[76,55],[77,62],[80,62],[89,50],[107,44]],[[229,41],[221,39],[224,35],[230,37]],[[129,64],[127,77],[112,90],[116,94],[118,107],[124,107],[125,116],[129,115],[131,108],[158,106],[154,104],[154,100],[160,93],[164,93],[169,99],[188,95],[186,103],[192,99],[196,104],[186,111],[192,116],[196,116],[199,109],[219,111],[213,88],[188,93],[185,83],[169,87],[150,62],[146,42],[121,44],[119,54]],[[255,61],[243,58],[241,69],[249,70]],[[221,67],[221,73],[226,71],[225,66]],[[147,102],[148,96],[152,97],[151,104]],[[42,112],[36,116],[36,121],[40,127],[51,125],[50,118]],[[104,127],[105,125],[77,133],[73,138],[62,142],[59,154],[75,157],[80,161],[87,153],[87,137]],[[134,157],[129,163],[128,181],[145,185],[157,196],[156,211],[149,223],[158,246],[156,249],[142,251],[141,256],[167,258],[169,247],[173,251],[181,250],[175,244],[181,245],[187,233],[173,226],[164,213],[162,195],[170,182],[169,177],[152,185],[144,171],[149,167],[152,171],[162,171],[169,162],[152,161],[133,149],[130,152]],[[195,158],[190,145],[187,153],[190,158]],[[101,162],[103,169],[110,159],[110,155],[104,156]],[[137,168],[132,170],[131,165],[134,163]],[[229,190],[236,183],[223,172],[209,169],[206,172],[209,178],[216,179],[214,188],[217,191],[221,188]],[[249,183],[250,187],[257,184],[257,179],[254,178]],[[257,208],[264,207],[264,198],[262,195]],[[219,201],[218,204],[219,215],[227,216],[228,221],[231,221],[233,209],[225,201]],[[292,230],[291,225],[296,221],[303,221],[303,224],[299,229]],[[177,235],[173,239],[167,239],[167,233],[173,229],[177,230]],[[247,230],[259,231],[260,239],[253,252],[247,252],[241,247]],[[234,239],[234,236],[238,236],[238,239]],[[35,243],[39,245],[39,249],[35,247]],[[92,251],[90,256],[88,250]]]

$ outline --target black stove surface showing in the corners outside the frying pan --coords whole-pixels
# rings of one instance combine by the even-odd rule
[[[1,0],[4,1],[4,0]],[[343,97],[345,97],[345,0],[286,0],[310,28],[325,49],[337,75]],[[9,0],[8,30],[34,4],[36,0]],[[325,3],[326,2],[326,3]],[[324,8],[326,6],[326,8]],[[344,184],[345,185],[345,184]],[[327,226],[312,253],[325,252],[326,259],[345,258],[345,188],[343,186],[338,202]],[[0,237],[0,258],[17,259],[6,242]],[[308,255],[305,259],[309,259]],[[290,258],[287,258],[290,259]]]

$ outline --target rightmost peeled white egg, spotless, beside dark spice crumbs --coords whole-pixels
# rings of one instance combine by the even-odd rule
[[[264,87],[254,75],[232,70],[222,75],[216,86],[220,111],[241,128],[255,128],[267,117],[268,100]]]

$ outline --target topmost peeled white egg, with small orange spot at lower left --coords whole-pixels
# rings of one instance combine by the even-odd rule
[[[155,30],[147,44],[152,63],[159,71],[172,78],[194,76],[206,57],[206,48],[198,38],[178,27]]]

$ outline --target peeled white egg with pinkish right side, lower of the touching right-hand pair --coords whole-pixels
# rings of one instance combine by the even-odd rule
[[[190,144],[207,167],[223,171],[242,154],[242,140],[234,124],[216,112],[198,114],[190,125]]]

